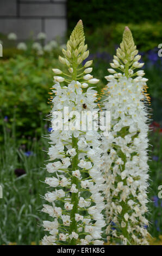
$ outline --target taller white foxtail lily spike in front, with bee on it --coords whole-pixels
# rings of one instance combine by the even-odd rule
[[[95,103],[97,92],[92,88],[85,93],[82,90],[82,87],[88,86],[88,82],[95,80],[87,74],[92,69],[88,69],[92,61],[78,68],[88,56],[84,40],[83,24],[79,21],[67,42],[67,50],[63,50],[65,58],[59,57],[67,65],[70,73],[68,80],[63,77],[66,74],[61,70],[53,70],[61,76],[54,77],[56,83],[52,87],[55,97],[52,99],[51,147],[48,150],[51,162],[46,166],[52,177],[45,179],[49,185],[45,199],[52,205],[43,205],[42,211],[54,220],[43,221],[43,227],[50,234],[43,237],[43,245],[103,244],[101,235],[105,222],[102,211],[105,203],[102,193],[105,180],[101,172],[101,139],[96,130],[88,130],[89,125],[95,124],[94,120],[91,123],[91,119],[82,119],[82,128],[79,118],[80,114],[88,117],[89,113],[98,110]],[[84,70],[82,74],[78,74],[80,70]],[[82,82],[85,78],[81,76],[84,74],[86,83]],[[64,84],[60,86],[59,82]],[[65,112],[67,108],[68,113]],[[64,124],[64,128],[58,130],[56,111],[61,113]]]

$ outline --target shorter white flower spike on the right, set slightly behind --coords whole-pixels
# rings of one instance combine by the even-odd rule
[[[107,182],[108,240],[147,245],[148,117],[146,78],[136,71],[144,63],[126,27],[106,76],[105,109],[111,111],[111,132],[103,138]]]

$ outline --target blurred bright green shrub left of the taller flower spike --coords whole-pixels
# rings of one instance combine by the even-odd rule
[[[40,119],[46,118],[50,109],[47,101],[49,88],[53,86],[52,68],[59,67],[58,60],[40,56],[16,55],[15,58],[1,60],[1,112],[10,121],[16,113],[17,136],[40,135]],[[0,125],[2,123],[3,119]],[[2,140],[2,136],[0,138]]]

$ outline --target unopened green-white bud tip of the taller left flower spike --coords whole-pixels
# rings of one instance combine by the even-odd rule
[[[89,83],[98,83],[98,79],[88,74],[92,72],[92,68],[89,68],[92,65],[92,60],[89,60],[84,66],[81,66],[83,60],[89,56],[87,47],[88,46],[85,44],[83,23],[82,20],[79,20],[76,27],[73,29],[70,39],[67,41],[66,50],[62,50],[64,57],[59,56],[59,61],[67,66],[68,74],[65,74],[61,70],[53,69],[55,74],[61,75],[54,76],[55,82],[70,83],[73,80],[79,81],[83,88],[88,87]]]

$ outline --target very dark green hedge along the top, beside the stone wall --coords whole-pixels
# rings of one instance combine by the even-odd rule
[[[162,2],[157,0],[68,0],[68,28],[71,30],[79,19],[86,28],[104,24],[142,23],[162,21]]]

